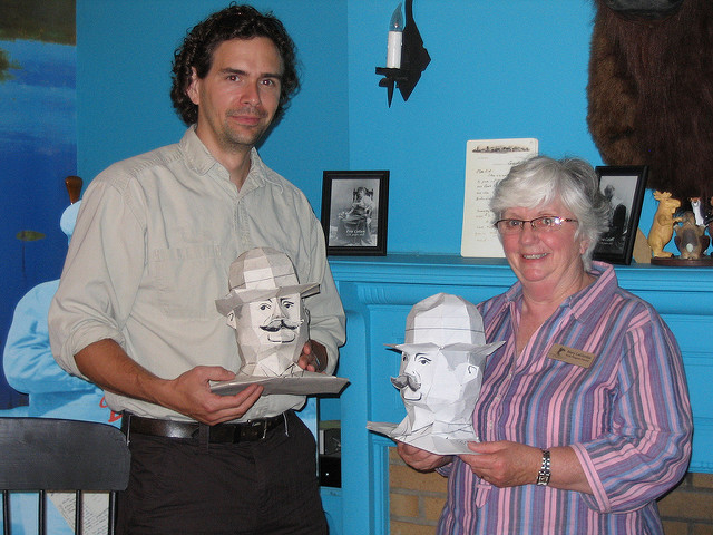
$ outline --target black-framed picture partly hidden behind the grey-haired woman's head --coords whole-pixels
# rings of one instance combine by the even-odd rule
[[[595,168],[599,191],[609,200],[609,227],[594,249],[594,260],[613,264],[632,263],[632,252],[642,213],[648,167],[602,165]]]

